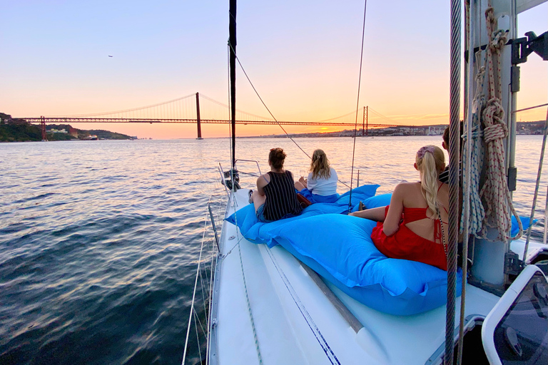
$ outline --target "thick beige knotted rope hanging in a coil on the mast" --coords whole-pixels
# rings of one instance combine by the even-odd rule
[[[494,10],[489,7],[485,11],[487,34],[489,34],[489,46],[487,47],[487,66],[489,68],[489,100],[483,112],[484,142],[487,145],[487,177],[480,191],[480,197],[487,205],[485,210],[484,224],[480,237],[486,240],[501,240],[506,242],[509,239],[515,240],[522,236],[523,225],[517,215],[512,197],[508,190],[506,169],[504,163],[504,146],[502,140],[508,135],[508,128],[504,122],[504,108],[502,108],[501,94],[501,66],[500,51],[506,43],[507,32],[496,31],[497,20],[494,19]],[[494,68],[496,60],[497,68]],[[494,71],[497,71],[495,75]],[[495,79],[497,85],[495,86]],[[517,218],[519,232],[516,237],[510,237],[512,220],[509,213],[512,212]],[[497,237],[487,237],[487,227],[496,227]]]

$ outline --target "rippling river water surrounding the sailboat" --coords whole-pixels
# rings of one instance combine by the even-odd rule
[[[310,154],[323,148],[350,183],[352,139],[297,142]],[[440,142],[359,138],[360,185],[390,192],[417,180],[415,152]],[[531,209],[541,143],[518,138],[521,215]],[[206,206],[211,199],[223,213],[217,164],[228,168],[229,147],[226,139],[0,144],[0,364],[180,364]],[[288,153],[288,170],[305,172],[290,140],[240,139],[236,148],[265,172],[273,147]],[[241,180],[250,187],[255,178]],[[543,230],[540,222],[535,237]],[[188,362],[199,363],[196,339],[190,351]]]

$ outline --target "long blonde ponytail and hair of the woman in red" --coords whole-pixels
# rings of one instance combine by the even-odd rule
[[[441,148],[435,145],[425,145],[420,148],[415,158],[420,171],[420,186],[422,196],[432,212],[437,212],[437,180],[445,166],[445,155]]]

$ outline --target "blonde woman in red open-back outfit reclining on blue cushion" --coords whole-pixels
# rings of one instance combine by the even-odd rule
[[[390,205],[350,213],[376,220],[371,238],[387,257],[424,262],[447,270],[447,207],[449,188],[438,180],[445,155],[435,145],[417,151],[420,182],[398,184]]]

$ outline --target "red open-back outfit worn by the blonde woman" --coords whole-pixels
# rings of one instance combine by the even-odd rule
[[[388,207],[385,210],[385,217]],[[440,243],[420,237],[406,226],[407,223],[427,218],[426,210],[427,208],[403,207],[400,228],[395,234],[385,235],[385,232],[382,231],[382,222],[378,222],[377,227],[373,228],[371,239],[377,249],[386,257],[410,259],[447,270],[447,258],[441,243],[440,220],[434,221],[434,240],[440,240]]]

